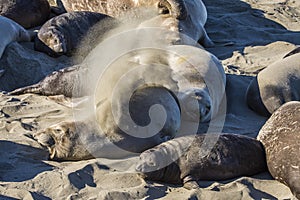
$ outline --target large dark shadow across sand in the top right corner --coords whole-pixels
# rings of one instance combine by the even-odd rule
[[[265,18],[264,11],[240,0],[204,0],[208,12],[206,30],[216,43],[232,42],[231,46],[207,48],[219,59],[243,54],[246,46],[263,46],[276,41],[300,44],[300,31],[287,30],[283,25]]]

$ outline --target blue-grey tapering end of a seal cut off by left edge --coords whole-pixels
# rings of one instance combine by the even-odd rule
[[[6,46],[14,41],[29,42],[31,34],[13,20],[0,16],[0,58]]]

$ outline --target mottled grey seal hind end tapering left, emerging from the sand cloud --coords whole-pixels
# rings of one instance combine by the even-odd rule
[[[9,92],[8,95],[34,93],[45,96],[64,95],[65,97],[82,97],[85,91],[80,88],[85,80],[87,68],[83,65],[75,65],[54,71],[37,84],[26,86]],[[87,79],[86,79],[87,80]]]

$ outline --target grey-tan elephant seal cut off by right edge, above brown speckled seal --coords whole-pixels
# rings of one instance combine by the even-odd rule
[[[246,100],[267,117],[286,102],[300,101],[300,54],[291,53],[260,71],[248,86]]]

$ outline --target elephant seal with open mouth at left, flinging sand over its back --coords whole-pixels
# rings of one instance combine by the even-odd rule
[[[180,126],[178,104],[168,90],[158,87],[140,88],[132,95],[130,116],[137,126],[147,126],[152,123],[153,113],[150,108],[155,104],[162,105],[166,112],[165,123],[154,124],[159,127],[163,125],[155,135],[152,135],[153,126],[145,128],[144,132],[139,132],[140,137],[134,137],[118,128],[114,121],[96,124],[96,120],[89,118],[76,122],[61,122],[34,134],[33,137],[48,148],[49,157],[53,160],[82,160],[92,157],[125,158],[173,138],[178,131]],[[109,116],[110,113],[106,115]],[[103,129],[103,126],[110,126],[110,129]]]

